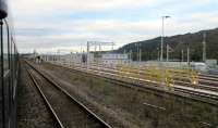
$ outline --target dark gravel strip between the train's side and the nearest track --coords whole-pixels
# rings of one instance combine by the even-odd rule
[[[17,128],[56,128],[57,124],[48,111],[38,90],[31,81],[24,63],[17,87]]]

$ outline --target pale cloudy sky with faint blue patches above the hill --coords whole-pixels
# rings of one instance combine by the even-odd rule
[[[87,41],[118,47],[161,35],[218,27],[218,0],[10,0],[20,52],[75,49]]]

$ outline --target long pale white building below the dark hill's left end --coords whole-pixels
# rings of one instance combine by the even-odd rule
[[[130,64],[128,54],[106,53],[101,55],[101,63],[106,66],[116,66],[118,64]]]

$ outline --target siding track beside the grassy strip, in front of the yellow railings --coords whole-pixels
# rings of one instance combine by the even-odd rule
[[[62,65],[57,65],[57,66],[62,66]],[[182,97],[182,98],[187,98],[187,99],[192,99],[192,100],[197,100],[197,101],[202,101],[202,102],[206,102],[206,103],[210,103],[214,105],[218,105],[218,93],[217,91],[213,91],[214,89],[216,90],[216,88],[214,87],[208,87],[208,86],[192,86],[190,84],[184,84],[182,82],[181,86],[179,85],[174,85],[172,88],[171,87],[167,87],[159,82],[153,81],[153,80],[147,80],[147,79],[142,79],[142,78],[137,78],[137,77],[130,77],[126,75],[120,75],[119,71],[112,69],[112,72],[106,72],[105,69],[95,69],[95,68],[86,68],[86,67],[68,67],[68,66],[62,66],[69,69],[73,69],[73,71],[78,71],[78,72],[84,72],[84,73],[88,73],[93,76],[96,77],[104,77],[105,79],[109,79],[110,81],[114,82],[114,81],[120,81],[120,82],[125,82],[132,86],[136,86],[136,87],[142,87],[142,88],[146,88],[146,89],[152,89],[152,90],[156,90],[156,91],[160,91],[160,92],[167,92],[170,94],[174,94],[178,97]],[[116,72],[116,73],[114,73]],[[178,84],[178,82],[175,82]],[[205,90],[205,89],[209,89],[209,90]]]

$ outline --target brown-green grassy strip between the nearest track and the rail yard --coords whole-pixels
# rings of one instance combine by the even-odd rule
[[[85,72],[70,71],[50,64],[43,64],[40,68],[71,82],[73,87],[75,86],[80,91],[87,93],[89,99],[94,99],[104,107],[113,110],[121,118],[125,118],[138,127],[154,127],[156,125],[161,128],[202,127],[204,125],[202,123],[216,125],[218,120],[217,107],[207,103],[154,90],[141,91],[137,88],[126,88],[113,82],[112,79],[109,81]],[[166,111],[150,106],[166,108]]]

